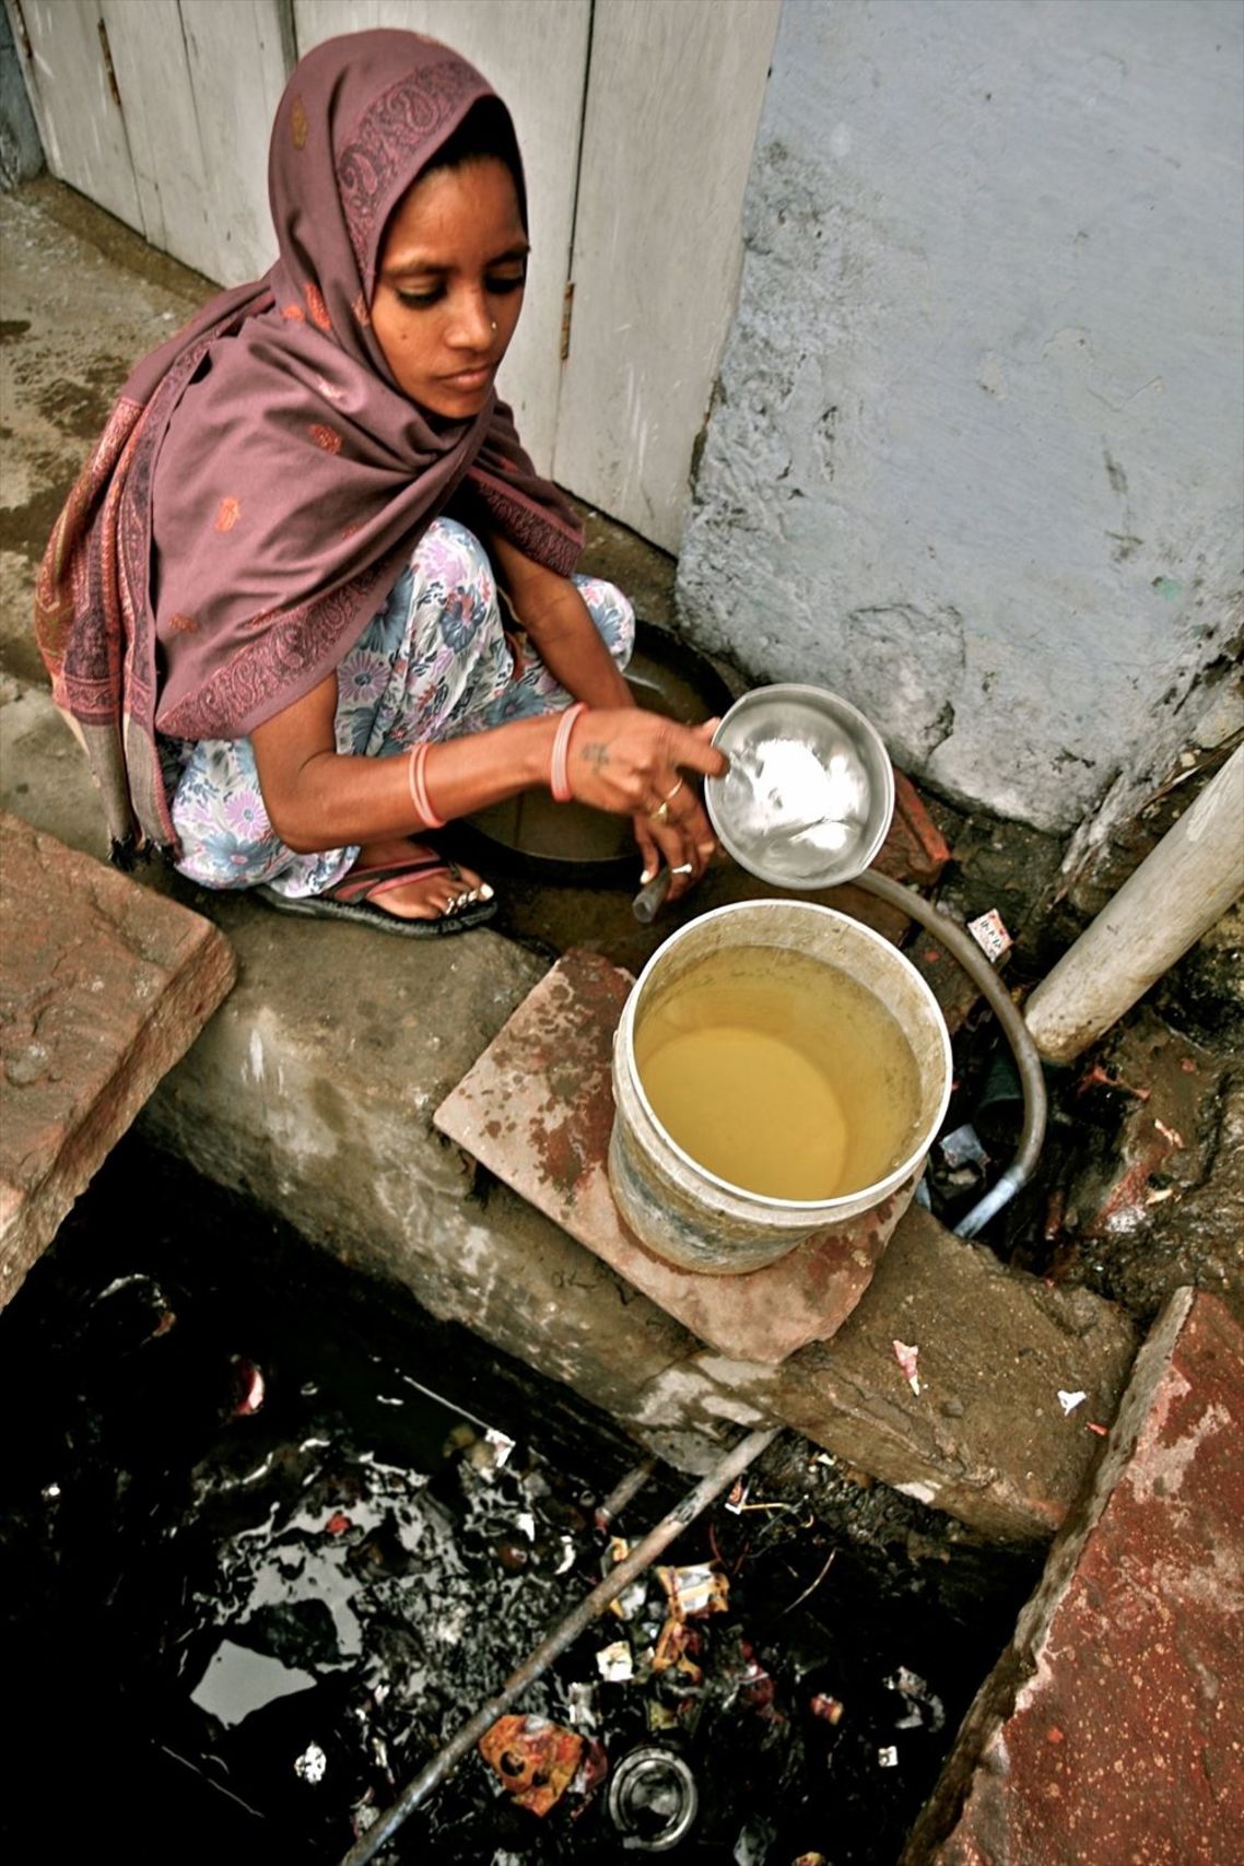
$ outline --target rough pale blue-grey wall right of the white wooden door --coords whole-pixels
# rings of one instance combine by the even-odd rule
[[[1127,812],[1238,646],[1242,26],[785,0],[683,625],[1039,829]]]

